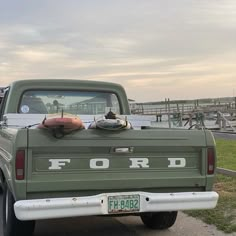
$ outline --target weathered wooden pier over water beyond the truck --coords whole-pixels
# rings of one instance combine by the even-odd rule
[[[236,97],[132,103],[131,112],[156,116],[157,123],[167,122],[170,128],[195,126],[236,132]]]

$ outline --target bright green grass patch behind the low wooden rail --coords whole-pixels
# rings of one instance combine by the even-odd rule
[[[236,140],[216,140],[217,166],[236,171]]]

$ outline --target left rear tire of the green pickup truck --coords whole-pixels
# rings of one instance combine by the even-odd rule
[[[35,221],[20,221],[14,212],[14,197],[7,187],[6,182],[2,183],[2,229],[3,236],[31,236],[34,232]]]

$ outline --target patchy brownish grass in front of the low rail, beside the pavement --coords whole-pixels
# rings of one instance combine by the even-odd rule
[[[220,195],[215,209],[185,213],[213,224],[225,233],[236,232],[236,177],[217,175],[214,190]]]

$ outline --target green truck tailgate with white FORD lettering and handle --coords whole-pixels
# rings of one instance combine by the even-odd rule
[[[73,196],[206,186],[206,138],[198,130],[82,130],[28,134],[27,195]]]

